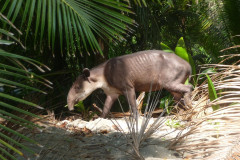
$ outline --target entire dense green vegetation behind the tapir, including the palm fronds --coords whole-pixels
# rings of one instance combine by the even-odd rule
[[[0,146],[10,148],[0,147],[0,158],[26,149],[8,138],[35,127],[25,120],[36,117],[32,107],[66,110],[84,67],[163,43],[174,50],[183,37],[200,73],[234,53],[221,50],[239,44],[239,28],[239,0],[0,0]]]

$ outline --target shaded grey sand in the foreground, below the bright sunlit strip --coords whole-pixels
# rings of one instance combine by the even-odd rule
[[[34,150],[38,156],[25,153],[30,159],[38,160],[83,160],[83,159],[133,159],[132,147],[121,132],[108,134],[93,133],[83,136],[82,133],[69,132],[56,126],[45,126],[41,131],[30,132],[30,138],[39,142],[42,147],[23,142]],[[154,134],[144,141],[140,153],[147,160],[182,159],[177,152],[167,149],[168,138],[159,138]],[[18,157],[19,160],[24,159]]]

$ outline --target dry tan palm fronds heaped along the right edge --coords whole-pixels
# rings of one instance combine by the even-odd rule
[[[229,58],[240,55],[229,55]],[[211,74],[218,98],[209,101],[205,81],[193,92],[194,109],[188,111],[187,131],[176,137],[170,146],[187,158],[229,159],[239,155],[240,137],[240,61],[233,65],[211,64],[217,73]],[[211,106],[221,108],[212,111]],[[231,158],[230,158],[231,159]]]

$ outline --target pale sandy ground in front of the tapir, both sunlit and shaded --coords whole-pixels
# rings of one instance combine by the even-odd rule
[[[141,118],[140,118],[141,120]],[[149,126],[154,121],[152,118]],[[115,125],[113,124],[115,123]],[[140,121],[141,122],[141,121]],[[116,127],[119,124],[120,126]],[[90,122],[76,119],[59,121],[55,124],[40,124],[43,128],[30,132],[30,136],[41,146],[25,143],[39,155],[30,156],[38,160],[83,160],[83,159],[133,159],[131,138],[126,121],[95,119]],[[119,131],[122,128],[122,132]],[[164,125],[140,146],[140,153],[146,160],[180,160],[181,156],[167,146],[180,129]],[[19,157],[21,159],[21,157]]]

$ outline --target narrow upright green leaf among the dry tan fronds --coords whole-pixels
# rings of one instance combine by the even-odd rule
[[[217,99],[217,92],[215,90],[214,84],[211,80],[211,78],[209,77],[209,75],[206,74],[207,80],[208,80],[208,95],[209,95],[209,99],[210,101],[214,101],[215,99]],[[212,109],[215,111],[217,109],[219,109],[220,106],[219,105],[213,105]]]

